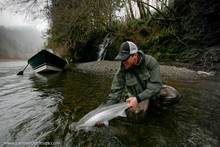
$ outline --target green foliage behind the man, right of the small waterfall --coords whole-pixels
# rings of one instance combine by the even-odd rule
[[[177,23],[178,24],[178,23]],[[109,47],[107,59],[113,60],[123,41],[131,40],[145,53],[159,61],[190,62],[199,54],[198,49],[192,50],[187,39],[181,36],[176,24],[169,27],[161,26],[158,20],[130,20],[115,26],[116,41]]]

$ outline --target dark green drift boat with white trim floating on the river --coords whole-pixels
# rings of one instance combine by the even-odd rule
[[[28,60],[28,64],[35,72],[58,72],[62,71],[66,61],[54,54],[51,49],[42,49]]]

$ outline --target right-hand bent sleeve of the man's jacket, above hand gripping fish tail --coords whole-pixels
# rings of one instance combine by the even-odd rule
[[[144,99],[154,98],[162,87],[159,63],[150,56],[150,60],[146,64],[150,73],[150,79],[146,83],[146,89],[137,96],[139,102]]]

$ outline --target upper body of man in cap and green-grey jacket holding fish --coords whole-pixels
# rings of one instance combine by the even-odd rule
[[[131,41],[121,44],[115,60],[121,61],[121,66],[113,78],[106,104],[118,103],[126,89],[129,94],[126,99],[129,107],[136,110],[138,105],[144,102],[142,109],[146,111],[149,100],[157,100],[162,88],[159,63],[152,56],[138,50]]]

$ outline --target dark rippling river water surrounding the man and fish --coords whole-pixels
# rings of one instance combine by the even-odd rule
[[[109,127],[74,132],[69,125],[99,106],[111,77],[61,72],[39,75],[24,61],[0,62],[0,146],[220,146],[220,75],[166,79],[183,99],[144,119],[116,118]]]

